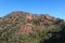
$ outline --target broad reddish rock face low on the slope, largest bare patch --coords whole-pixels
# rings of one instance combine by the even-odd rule
[[[28,34],[31,32],[32,32],[31,26],[28,26],[28,25],[22,26],[21,29],[18,30],[18,33],[21,33],[21,34]]]

